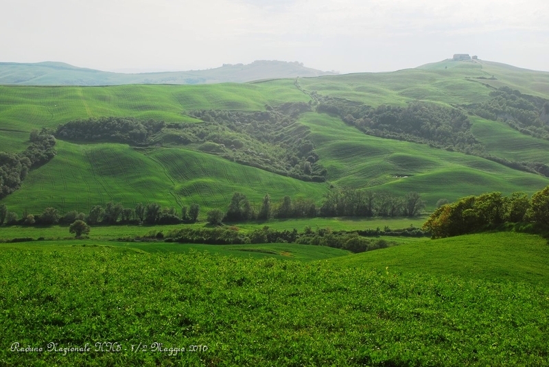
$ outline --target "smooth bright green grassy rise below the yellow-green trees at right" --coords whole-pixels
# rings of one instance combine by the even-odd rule
[[[494,282],[522,282],[549,287],[549,245],[524,233],[482,233],[445,239],[421,239],[397,246],[334,259],[344,268],[389,268]]]

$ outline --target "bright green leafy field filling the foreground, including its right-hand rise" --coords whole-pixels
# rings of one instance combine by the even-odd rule
[[[461,239],[307,262],[2,244],[0,362],[548,365],[545,241],[509,233]],[[483,270],[431,272],[428,256],[408,259],[414,246],[436,248],[439,268],[452,268],[463,252],[471,256],[454,270],[478,263]],[[45,351],[12,352],[14,342]],[[49,342],[61,351],[48,352]],[[113,344],[101,351],[102,342]],[[62,352],[86,343],[91,351]]]

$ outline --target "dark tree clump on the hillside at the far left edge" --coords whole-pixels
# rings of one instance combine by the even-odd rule
[[[30,169],[56,156],[56,139],[45,128],[30,132],[30,145],[23,152],[0,152],[0,199],[21,187]]]

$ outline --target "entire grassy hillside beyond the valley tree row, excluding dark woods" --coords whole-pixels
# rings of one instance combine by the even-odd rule
[[[468,109],[489,101],[491,91],[500,85],[549,99],[548,75],[478,60],[445,61],[394,73],[248,84],[0,86],[0,144],[4,151],[21,152],[28,145],[28,134],[33,129],[56,128],[75,119],[136,117],[164,120],[176,126],[185,123],[200,126],[200,119],[193,115],[196,110],[217,115],[230,111],[248,119],[246,111],[266,113],[273,107],[284,110],[283,106],[289,103],[302,103],[309,106],[309,112],[297,113],[295,121],[290,121],[288,134],[294,134],[290,138],[295,140],[312,141],[318,164],[327,171],[327,183],[304,182],[244,166],[227,158],[230,154],[223,158],[223,154],[216,156],[201,151],[198,144],[178,143],[163,135],[145,147],[58,140],[58,155],[32,170],[21,189],[2,203],[12,211],[21,213],[27,209],[38,213],[47,206],[86,212],[94,204],[110,200],[128,206],[150,201],[163,206],[196,202],[205,213],[207,209],[226,208],[235,191],[245,193],[256,205],[265,193],[272,196],[273,202],[290,195],[312,198],[318,203],[332,185],[390,191],[400,196],[418,191],[427,202],[427,209],[432,210],[441,198],[455,200],[487,191],[533,193],[549,185],[549,179],[487,160],[476,152],[463,154],[425,143],[364,134],[340,117],[317,113],[315,108],[319,101],[328,99],[366,108],[382,104],[404,108],[410,103],[430,102],[447,110],[458,109],[469,116],[471,136],[485,156],[548,165],[549,141],[523,134],[503,121],[482,119]],[[211,123],[215,126],[224,122]],[[261,129],[261,123],[246,123],[250,121],[236,121],[232,128],[239,134],[253,126]],[[264,139],[278,138],[272,134]],[[399,139],[406,140],[406,137]],[[262,146],[265,145],[256,145],[254,149]],[[229,145],[220,149],[228,153],[231,150]],[[249,150],[249,147],[238,149]],[[303,161],[300,164],[303,165]]]

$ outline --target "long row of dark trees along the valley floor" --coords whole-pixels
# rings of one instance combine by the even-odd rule
[[[324,202],[317,206],[314,200],[284,196],[280,202],[273,203],[267,193],[259,208],[254,206],[246,195],[233,193],[226,211],[212,209],[207,212],[207,222],[220,225],[222,222],[243,222],[246,220],[268,220],[270,218],[302,218],[302,217],[396,217],[419,215],[425,207],[417,192],[410,192],[404,198],[390,193],[375,193],[373,191],[358,191],[351,189],[333,189],[325,195]],[[61,214],[53,207],[46,208],[35,215],[23,212],[22,217],[14,211],[8,211],[5,204],[0,205],[0,225],[53,225],[71,224],[81,220],[87,224],[178,224],[196,222],[200,214],[200,205],[193,203],[176,209],[174,206],[162,207],[157,202],[137,204],[134,208],[125,207],[121,203],[108,202],[105,206],[94,205],[88,213],[68,211]]]

